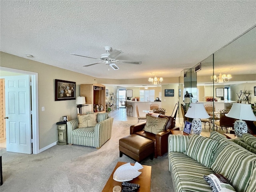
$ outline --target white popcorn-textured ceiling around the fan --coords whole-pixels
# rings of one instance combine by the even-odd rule
[[[0,50],[96,78],[178,77],[256,24],[256,1],[1,0]],[[124,52],[108,71],[104,46]]]

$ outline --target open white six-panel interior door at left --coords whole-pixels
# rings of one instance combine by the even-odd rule
[[[6,76],[6,151],[32,154],[30,76]]]

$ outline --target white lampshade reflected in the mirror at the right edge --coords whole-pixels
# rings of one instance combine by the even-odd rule
[[[256,117],[252,112],[252,107],[250,104],[233,103],[227,117],[248,121],[255,121]]]

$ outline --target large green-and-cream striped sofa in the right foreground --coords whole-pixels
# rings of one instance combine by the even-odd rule
[[[203,178],[212,173],[226,177],[236,192],[256,191],[256,155],[218,132],[170,135],[168,160],[176,192],[212,192]]]

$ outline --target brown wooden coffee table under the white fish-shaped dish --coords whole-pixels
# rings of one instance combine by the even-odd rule
[[[126,162],[118,162],[116,164],[116,167],[114,168],[112,174],[108,178],[108,181],[107,181],[106,185],[104,186],[102,192],[112,192],[113,187],[116,185],[119,185],[122,187],[122,182],[115,181],[113,179],[113,175],[114,175],[114,172],[116,171],[116,169],[123,164],[126,164]],[[131,163],[131,165],[133,166],[134,163]],[[142,166],[143,166],[143,169],[139,170],[141,172],[141,174],[138,177],[136,177],[133,180],[128,181],[128,182],[140,184],[140,188],[138,189],[137,192],[150,192],[151,166],[147,166],[147,165],[142,165]]]

